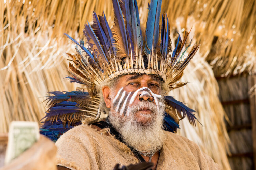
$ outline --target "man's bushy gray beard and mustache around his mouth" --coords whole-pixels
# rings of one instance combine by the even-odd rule
[[[151,117],[151,122],[141,124],[137,122],[135,113],[144,107],[148,107],[153,114],[141,114],[146,118]],[[122,117],[120,113],[111,109],[108,120],[122,135],[127,145],[134,147],[139,152],[155,153],[162,148],[166,138],[162,129],[164,108],[165,106],[161,106],[158,111],[155,104],[141,101],[128,109],[127,112],[130,113],[128,117]]]

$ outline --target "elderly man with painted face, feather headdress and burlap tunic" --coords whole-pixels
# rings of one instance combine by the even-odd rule
[[[139,162],[153,163],[153,169],[219,169],[195,143],[174,133],[178,116],[187,115],[192,124],[197,119],[192,109],[166,96],[186,84],[177,81],[199,46],[191,48],[190,42],[184,57],[185,32],[172,51],[165,16],[159,36],[160,0],[151,0],[145,29],[136,0],[113,0],[113,8],[112,30],[105,15],[96,13],[93,24],[85,25],[88,48],[67,35],[77,45],[76,54],[68,54],[69,78],[88,92],[48,97],[41,133],[57,140],[59,169],[118,169]]]

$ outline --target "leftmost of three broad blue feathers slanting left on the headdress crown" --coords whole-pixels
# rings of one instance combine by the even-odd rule
[[[100,44],[97,36],[95,35],[95,32],[91,28],[89,22],[88,22],[88,25],[85,25],[85,30],[87,32],[87,35],[93,40],[94,45],[96,46],[97,52],[99,53],[99,55],[97,55],[97,59],[99,60],[99,56],[100,56],[106,63],[109,63],[109,61],[106,58],[106,55],[101,47],[101,44]],[[94,51],[95,54],[97,54],[97,52]]]

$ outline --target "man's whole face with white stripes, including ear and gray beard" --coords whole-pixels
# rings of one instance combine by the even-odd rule
[[[110,108],[108,120],[128,145],[150,153],[162,147],[165,105],[158,79],[151,75],[125,75],[114,89],[104,86],[102,92]]]

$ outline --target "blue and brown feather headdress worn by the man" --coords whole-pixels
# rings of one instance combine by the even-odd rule
[[[68,54],[71,61],[71,77],[68,78],[71,82],[85,85],[89,93],[52,92],[53,96],[48,97],[50,108],[45,116],[42,133],[52,133],[51,135],[56,136],[62,133],[66,126],[79,123],[84,116],[96,119],[106,117],[99,109],[96,87],[103,81],[120,75],[152,74],[161,78],[169,90],[186,84],[177,81],[182,77],[184,68],[199,46],[193,46],[188,56],[184,56],[191,45],[190,42],[183,51],[189,35],[185,31],[183,40],[178,34],[176,46],[172,51],[170,26],[166,15],[162,15],[161,27],[159,26],[162,1],[151,0],[148,5],[145,31],[142,31],[140,25],[136,0],[112,2],[115,16],[112,29],[105,14],[99,16],[93,12],[93,23],[86,24],[84,28],[85,43],[83,40],[77,42],[65,34],[76,44],[76,53]],[[145,32],[145,35],[142,32]],[[81,100],[77,100],[79,98]],[[195,124],[196,118],[192,109],[171,96],[166,96],[165,100],[168,109],[176,110],[181,119],[187,115],[189,122]],[[164,120],[168,131],[174,132],[179,127],[168,112],[165,113]],[[57,122],[56,126],[49,125],[50,122]]]

